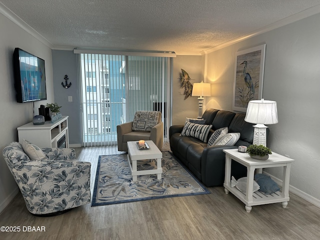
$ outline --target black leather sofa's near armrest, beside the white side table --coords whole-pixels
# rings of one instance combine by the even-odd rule
[[[203,148],[201,156],[201,178],[206,186],[220,186],[224,182],[225,153],[223,149],[237,146],[214,145]]]

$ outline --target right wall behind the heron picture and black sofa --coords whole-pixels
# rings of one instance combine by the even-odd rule
[[[213,96],[206,107],[232,110],[235,52],[266,44],[263,98],[277,102],[277,124],[269,125],[267,145],[295,159],[291,190],[320,204],[320,14],[207,54],[206,80]],[[282,179],[281,167],[267,168]]]

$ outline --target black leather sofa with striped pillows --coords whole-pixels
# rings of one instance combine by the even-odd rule
[[[252,123],[244,121],[245,113],[207,108],[202,118],[205,124],[212,124],[208,138],[214,130],[228,127],[228,132],[240,132],[240,138],[233,146],[207,146],[195,137],[180,136],[183,125],[169,128],[169,141],[172,153],[206,186],[221,186],[224,182],[225,154],[223,149],[248,146],[253,141]],[[245,153],[244,153],[245,154]],[[236,179],[246,176],[246,167],[232,160],[231,176]]]

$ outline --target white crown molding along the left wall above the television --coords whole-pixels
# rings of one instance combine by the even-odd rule
[[[41,41],[49,48],[53,48],[51,42],[45,39],[40,33],[38,33],[35,29],[33,29],[30,25],[23,21],[18,15],[14,14],[10,9],[3,5],[2,2],[0,2],[0,13],[2,13],[6,18],[17,24],[19,27],[21,27],[23,30],[34,36],[36,39]]]

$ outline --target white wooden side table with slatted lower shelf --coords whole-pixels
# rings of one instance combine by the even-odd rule
[[[224,149],[225,152],[225,177],[224,191],[225,193],[232,192],[245,204],[245,210],[250,212],[252,206],[281,202],[282,207],[286,207],[289,200],[289,177],[291,163],[294,161],[288,157],[282,156],[275,152],[269,155],[267,160],[256,160],[251,158],[245,152],[239,152],[237,149]],[[236,187],[231,187],[231,159],[239,162],[247,168],[246,192],[239,191]],[[254,170],[258,173],[262,172],[264,167],[283,166],[282,190],[271,194],[263,194],[255,191],[252,193]],[[251,189],[249,191],[249,189]]]

